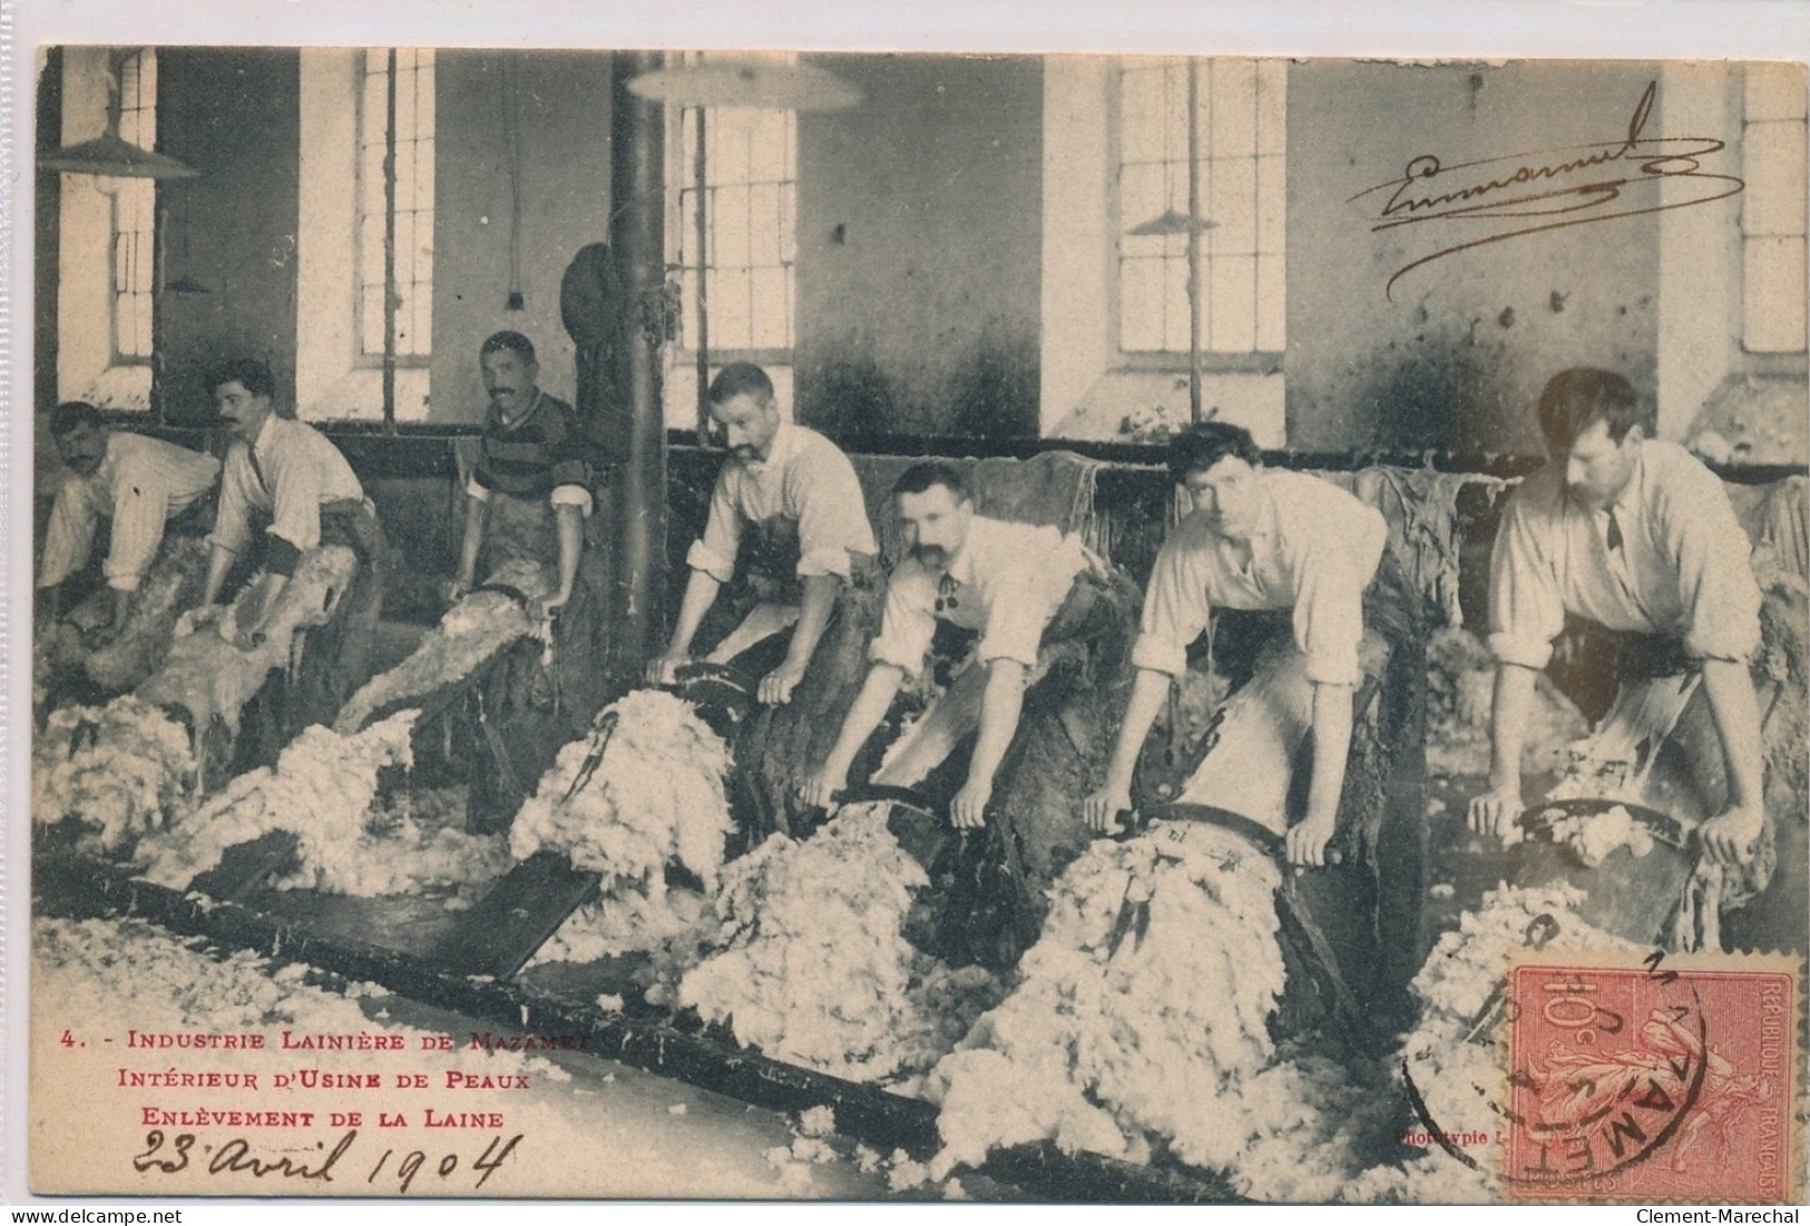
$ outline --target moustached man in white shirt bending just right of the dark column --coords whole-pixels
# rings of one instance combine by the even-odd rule
[[[717,476],[710,519],[686,564],[684,597],[666,651],[646,682],[670,685],[691,660],[691,644],[726,584],[738,575],[753,608],[710,653],[711,664],[786,653],[760,678],[757,698],[791,702],[836,608],[836,595],[872,570],[880,548],[867,523],[854,465],[827,438],[782,420],[773,380],[751,362],[731,362],[710,383],[710,416],[729,461]]]

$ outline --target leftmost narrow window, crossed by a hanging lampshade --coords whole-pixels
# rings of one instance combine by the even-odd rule
[[[119,61],[119,139],[157,146],[157,52],[150,47]],[[157,184],[112,179],[112,335],[114,362],[150,362],[152,293],[157,268]]]

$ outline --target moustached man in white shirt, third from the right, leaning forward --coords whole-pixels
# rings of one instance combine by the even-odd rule
[[[892,488],[892,503],[909,553],[887,580],[867,678],[834,747],[800,796],[816,806],[834,803],[894,696],[923,671],[936,622],[943,620],[979,633],[972,664],[912,725],[872,781],[918,785],[977,731],[950,819],[963,828],[981,826],[994,778],[1019,727],[1024,689],[1035,680],[1044,633],[1077,593],[1075,580],[1102,568],[1079,539],[1052,526],[976,514],[963,476],[939,461],[907,468]]]

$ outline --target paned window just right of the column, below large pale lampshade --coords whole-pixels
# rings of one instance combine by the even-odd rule
[[[681,61],[691,61],[688,56]],[[699,112],[704,190],[697,184]],[[679,275],[681,342],[699,344],[704,269],[710,353],[789,362],[793,347],[798,125],[789,110],[682,107],[666,134],[666,259]],[[702,208],[704,240],[699,242]]]

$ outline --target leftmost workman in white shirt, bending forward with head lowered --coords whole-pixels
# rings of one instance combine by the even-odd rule
[[[206,501],[221,465],[205,452],[112,430],[94,405],[80,400],[51,414],[51,441],[69,472],[51,505],[38,564],[40,609],[45,617],[60,615],[62,588],[87,566],[94,532],[107,519],[101,575],[109,595],[94,629],[118,633],[163,546],[165,528]]]

